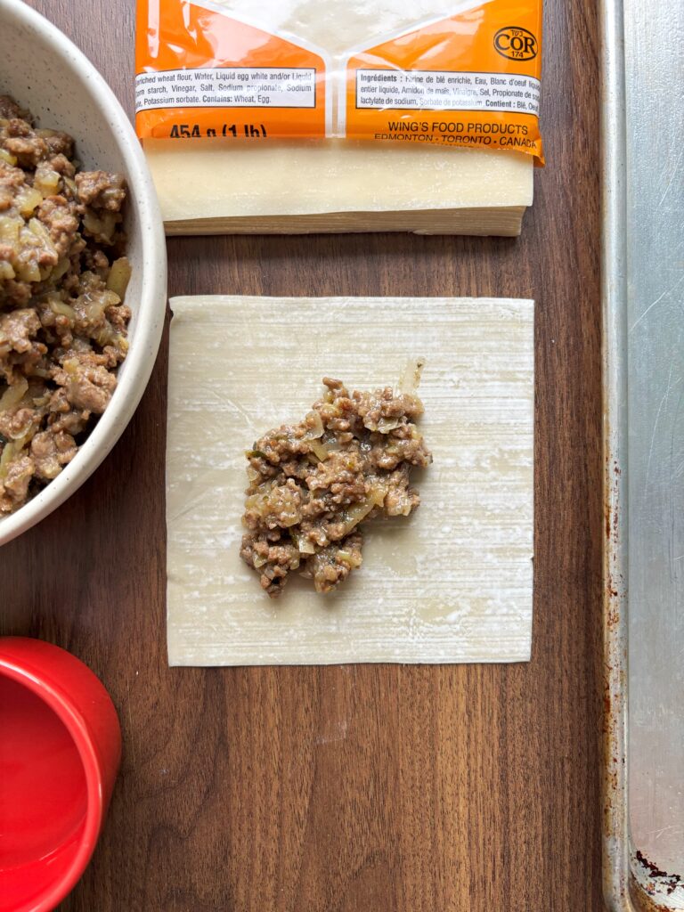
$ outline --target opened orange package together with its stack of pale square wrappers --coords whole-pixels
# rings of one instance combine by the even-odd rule
[[[136,71],[170,233],[517,234],[544,161],[540,0],[140,0]]]

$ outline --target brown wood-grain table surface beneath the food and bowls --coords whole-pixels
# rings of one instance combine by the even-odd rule
[[[128,111],[134,0],[32,0]],[[129,429],[0,551],[3,633],[94,668],[124,753],[78,912],[601,908],[598,38],[547,0],[548,165],[517,240],[169,243],[170,295],[534,296],[532,661],[168,668],[167,337]],[[344,723],[344,724],[341,724]],[[344,735],[340,732],[344,731]]]

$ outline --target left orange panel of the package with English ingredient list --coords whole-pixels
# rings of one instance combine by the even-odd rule
[[[322,57],[187,0],[138,0],[135,88],[140,138],[326,135]]]

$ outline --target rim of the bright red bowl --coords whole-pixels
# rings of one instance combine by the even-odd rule
[[[102,766],[98,758],[97,747],[88,731],[88,724],[65,690],[33,672],[31,668],[22,666],[11,656],[6,657],[2,654],[0,654],[0,678],[13,680],[30,690],[55,713],[76,745],[86,780],[85,822],[70,865],[66,872],[48,886],[38,899],[34,897],[22,906],[16,907],[16,912],[50,912],[50,909],[57,907],[77,885],[98,844],[98,836],[104,823],[106,810]],[[1,877],[2,869],[0,869],[0,879]]]

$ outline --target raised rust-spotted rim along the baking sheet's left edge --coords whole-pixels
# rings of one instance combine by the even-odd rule
[[[627,275],[623,0],[601,0],[603,559],[603,891],[614,912],[629,893],[627,819]]]

